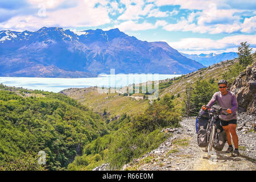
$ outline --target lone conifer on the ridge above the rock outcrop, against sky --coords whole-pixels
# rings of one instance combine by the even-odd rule
[[[253,63],[253,57],[251,57],[251,51],[253,48],[250,48],[250,44],[247,44],[247,42],[241,42],[241,46],[238,47],[238,59],[239,63],[243,65],[243,67],[246,67],[247,65]]]

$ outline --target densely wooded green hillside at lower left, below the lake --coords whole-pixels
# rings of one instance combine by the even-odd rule
[[[100,115],[63,94],[0,84],[0,170],[36,170],[39,151],[46,152],[44,169],[64,170],[105,134]]]

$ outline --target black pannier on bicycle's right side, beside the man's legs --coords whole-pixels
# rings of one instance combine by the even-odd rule
[[[222,151],[227,141],[226,132],[220,125],[219,119],[217,119],[217,121],[215,122],[215,125],[216,125],[216,133],[214,136],[213,148],[217,151]]]

